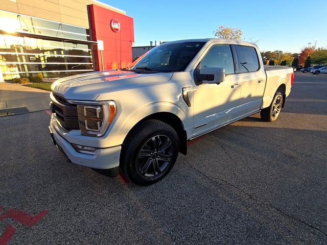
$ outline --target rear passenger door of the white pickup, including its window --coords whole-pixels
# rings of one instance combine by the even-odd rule
[[[259,111],[266,86],[266,73],[253,46],[233,45],[237,55],[238,80],[241,82],[240,114]]]

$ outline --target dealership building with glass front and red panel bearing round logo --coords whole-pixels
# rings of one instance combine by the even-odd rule
[[[96,0],[0,0],[0,82],[132,62],[133,18]]]

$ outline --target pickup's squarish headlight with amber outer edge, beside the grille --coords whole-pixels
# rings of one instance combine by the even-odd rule
[[[78,123],[82,135],[103,136],[116,114],[114,101],[106,102],[78,102],[69,101],[77,105]]]

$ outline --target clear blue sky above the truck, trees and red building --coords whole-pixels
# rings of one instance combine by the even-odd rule
[[[299,53],[303,46],[327,47],[327,1],[129,1],[100,0],[134,18],[135,44],[213,37],[218,26],[238,27],[262,51]],[[318,29],[319,24],[322,27]]]

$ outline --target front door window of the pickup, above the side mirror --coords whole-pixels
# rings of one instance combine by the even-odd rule
[[[234,62],[229,45],[214,45],[203,57],[198,69],[203,67],[223,67],[225,74],[234,73]]]

